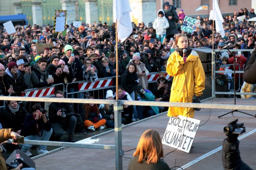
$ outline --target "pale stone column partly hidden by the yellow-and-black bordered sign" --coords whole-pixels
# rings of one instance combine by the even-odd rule
[[[69,25],[73,21],[76,21],[76,0],[61,0],[60,3],[62,3],[62,10],[67,11],[66,24]]]

